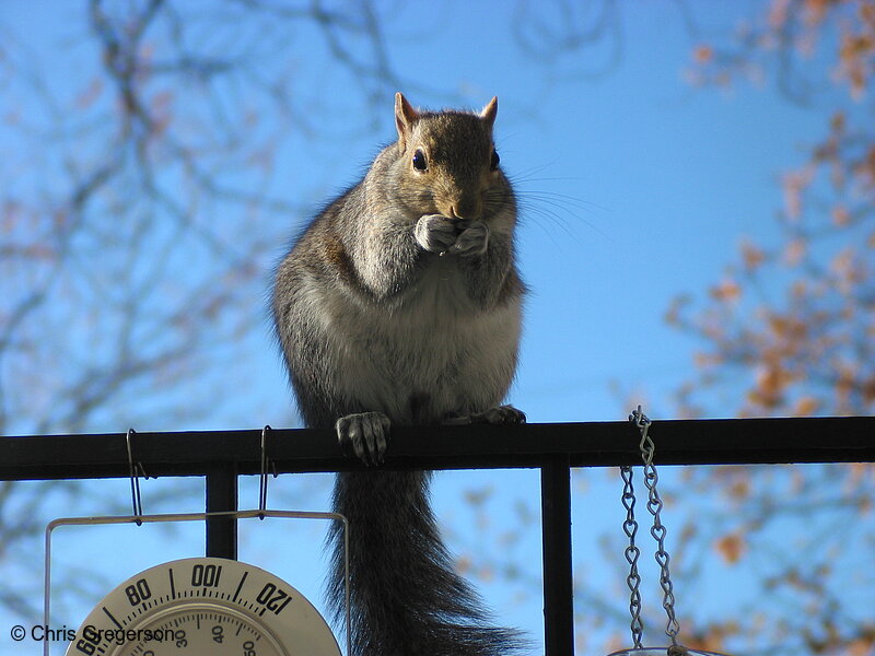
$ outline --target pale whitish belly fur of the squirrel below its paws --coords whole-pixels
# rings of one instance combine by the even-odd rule
[[[502,400],[516,364],[520,303],[477,309],[459,276],[441,261],[392,309],[340,290],[318,293],[327,364],[348,400],[399,423],[481,412]]]

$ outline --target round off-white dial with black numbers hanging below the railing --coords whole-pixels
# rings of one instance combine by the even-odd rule
[[[259,567],[189,558],[150,567],[91,611],[67,656],[340,656],[319,612]]]

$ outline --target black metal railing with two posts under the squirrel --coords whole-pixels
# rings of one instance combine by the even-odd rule
[[[262,471],[261,429],[0,437],[0,480],[206,477],[206,509],[237,509],[237,477]],[[654,421],[658,465],[875,461],[875,417]],[[574,653],[571,468],[639,465],[628,422],[394,427],[386,469],[539,468],[547,656]],[[129,454],[130,446],[130,454]],[[270,471],[361,469],[331,431],[271,430]],[[207,520],[206,554],[236,558],[236,522]]]

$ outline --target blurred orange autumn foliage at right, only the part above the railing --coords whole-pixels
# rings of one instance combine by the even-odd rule
[[[783,176],[782,242],[744,242],[703,304],[682,296],[669,308],[668,320],[704,343],[700,376],[681,389],[684,413],[702,414],[703,390],[727,380],[744,386],[742,415],[872,412],[875,2],[774,0],[739,34],[740,44],[695,50],[695,82],[773,72],[793,102],[835,110],[807,161]]]

